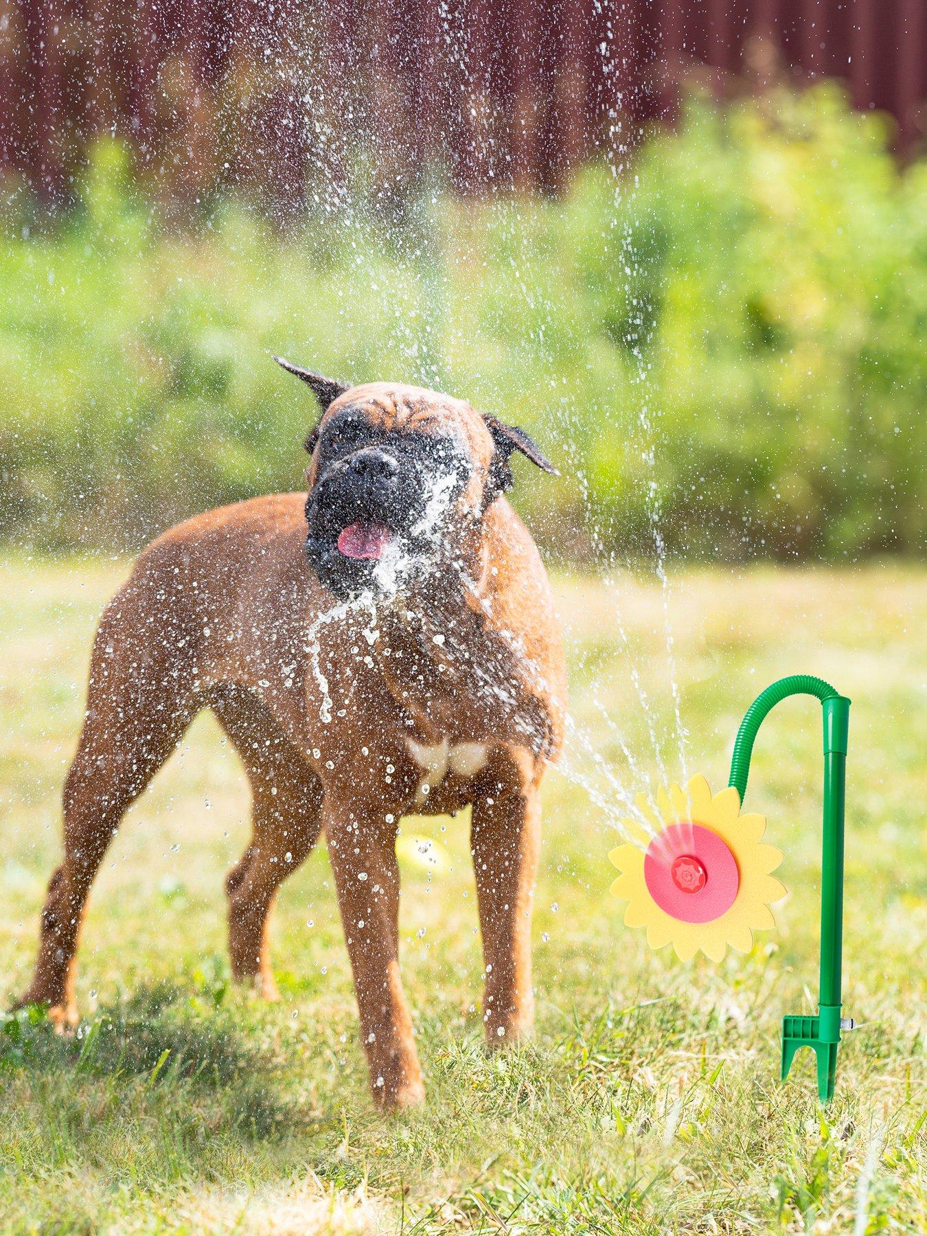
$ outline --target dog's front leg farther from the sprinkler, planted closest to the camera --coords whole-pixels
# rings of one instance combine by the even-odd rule
[[[399,978],[396,828],[356,801],[349,807],[326,798],[324,817],[371,1091],[381,1106],[409,1107],[425,1091]]]

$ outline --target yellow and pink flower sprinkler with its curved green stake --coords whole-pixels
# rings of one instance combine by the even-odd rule
[[[703,776],[658,792],[655,811],[645,795],[637,806],[650,829],[624,821],[640,845],[619,845],[609,854],[620,875],[612,892],[628,900],[624,922],[646,927],[651,948],[672,944],[682,960],[698,949],[721,962],[728,946],[753,947],[753,932],[775,926],[770,902],[785,889],[772,876],[782,855],[761,844],[763,816],[740,812],[750,771],[750,755],[764,718],[794,695],[816,696],[824,723],[823,855],[821,876],[821,984],[815,1017],[782,1018],[781,1079],[795,1053],[811,1047],[817,1057],[817,1089],[822,1103],[833,1098],[840,1031],[853,1020],[840,1016],[840,953],[843,943],[843,811],[847,771],[849,700],[823,679],[794,674],[756,696],[734,740],[727,790],[713,795]],[[644,847],[645,848],[641,848]]]

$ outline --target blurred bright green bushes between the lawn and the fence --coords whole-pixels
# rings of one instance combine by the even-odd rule
[[[0,470],[7,536],[135,545],[300,485],[315,410],[268,352],[440,386],[528,428],[539,536],[639,554],[840,557],[923,543],[927,162],[832,85],[691,99],[630,172],[565,199],[360,194],[297,231],[234,201],[183,232],[117,146],[80,209],[7,194]]]

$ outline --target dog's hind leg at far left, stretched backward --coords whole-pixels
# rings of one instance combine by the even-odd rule
[[[64,859],[48,885],[36,969],[19,1001],[47,1004],[59,1025],[77,1021],[80,922],[106,847],[197,711],[169,624],[156,639],[142,616],[130,581],[96,633],[87,713],[64,782]]]

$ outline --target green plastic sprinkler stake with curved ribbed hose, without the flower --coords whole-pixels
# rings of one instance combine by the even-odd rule
[[[840,1016],[840,954],[843,948],[843,812],[847,775],[849,706],[845,696],[823,679],[794,674],[756,696],[747,709],[734,742],[729,784],[743,802],[750,754],[765,716],[781,700],[811,695],[821,701],[824,722],[823,852],[821,860],[821,985],[816,1017],[782,1018],[782,1072],[789,1077],[795,1053],[811,1047],[817,1057],[817,1093],[822,1103],[833,1098],[837,1048],[842,1030],[853,1030],[853,1018]]]

